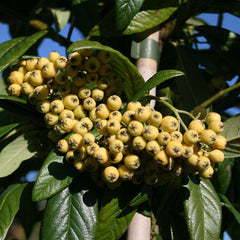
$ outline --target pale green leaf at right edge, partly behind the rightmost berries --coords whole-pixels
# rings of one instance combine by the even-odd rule
[[[225,158],[240,157],[240,115],[230,117],[224,121],[224,131],[220,134],[227,139],[227,146],[223,150]]]

